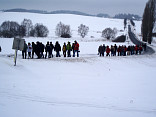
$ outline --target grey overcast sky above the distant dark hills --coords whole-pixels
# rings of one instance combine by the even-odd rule
[[[0,9],[74,10],[90,14],[133,13],[142,16],[148,0],[0,0]]]

